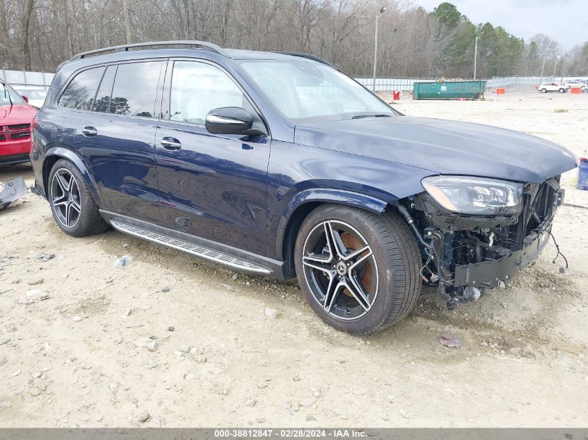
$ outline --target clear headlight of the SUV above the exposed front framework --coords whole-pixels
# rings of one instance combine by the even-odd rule
[[[454,213],[518,214],[523,209],[523,184],[479,177],[434,176],[422,179],[433,199]]]

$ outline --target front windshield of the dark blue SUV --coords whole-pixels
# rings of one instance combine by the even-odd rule
[[[328,65],[290,60],[245,60],[241,67],[271,104],[290,119],[395,115],[362,85]]]

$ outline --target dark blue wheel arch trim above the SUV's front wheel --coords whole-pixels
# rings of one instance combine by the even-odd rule
[[[396,197],[392,197],[390,200],[383,200],[370,195],[333,188],[313,188],[296,194],[287,204],[276,233],[276,256],[284,261],[285,278],[292,278],[296,275],[293,258],[296,236],[304,219],[318,206],[340,204],[381,214],[386,210],[388,204],[396,199]]]

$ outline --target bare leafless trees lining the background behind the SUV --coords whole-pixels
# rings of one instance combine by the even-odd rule
[[[379,19],[379,75],[468,77],[473,25],[457,13],[450,28],[408,0],[0,0],[0,63],[51,72],[74,54],[98,47],[206,40],[239,49],[308,52],[349,74],[369,76],[374,19],[382,6],[387,10]],[[553,66],[557,42],[544,35],[508,53],[481,39],[480,72],[491,74],[492,63],[500,61],[501,72],[539,74],[537,60],[548,46],[546,65]],[[569,52],[571,74],[588,74],[587,51],[579,46]]]

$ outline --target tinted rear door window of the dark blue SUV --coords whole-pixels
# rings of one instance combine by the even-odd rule
[[[121,64],[116,70],[109,113],[155,117],[161,61]]]

